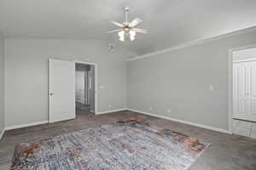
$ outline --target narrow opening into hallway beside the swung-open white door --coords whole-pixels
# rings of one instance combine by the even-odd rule
[[[75,100],[76,116],[96,112],[96,65],[75,64]]]

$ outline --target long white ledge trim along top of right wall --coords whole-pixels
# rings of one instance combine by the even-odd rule
[[[147,57],[154,56],[154,55],[157,55],[157,54],[165,54],[167,52],[172,52],[172,51],[175,51],[175,50],[178,50],[178,49],[189,48],[191,46],[200,45],[202,43],[212,42],[212,41],[215,41],[215,40],[218,40],[218,39],[221,39],[221,38],[225,38],[225,37],[238,36],[238,35],[241,35],[241,34],[244,34],[244,33],[247,33],[247,32],[252,32],[252,31],[256,31],[256,26],[249,27],[249,28],[246,28],[246,29],[243,29],[243,30],[240,30],[240,31],[233,31],[233,32],[230,32],[230,33],[227,33],[227,34],[219,35],[217,37],[201,38],[201,39],[197,39],[197,40],[194,40],[194,41],[191,41],[191,42],[184,42],[184,43],[181,43],[177,46],[173,46],[171,48],[165,48],[165,49],[161,49],[159,51],[155,51],[153,53],[140,55],[140,56],[137,56],[137,57],[134,57],[134,58],[131,58],[131,59],[127,59],[126,61],[143,59],[143,58],[147,58]]]

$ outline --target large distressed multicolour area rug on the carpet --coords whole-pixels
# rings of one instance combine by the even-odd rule
[[[15,148],[11,170],[184,170],[208,143],[137,120],[67,133]]]

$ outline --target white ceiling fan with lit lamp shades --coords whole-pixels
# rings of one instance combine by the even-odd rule
[[[107,31],[106,33],[115,33],[118,32],[119,35],[119,40],[120,41],[133,41],[135,39],[136,33],[143,33],[143,34],[147,34],[147,30],[141,29],[141,28],[135,28],[135,26],[138,26],[139,24],[141,24],[143,22],[142,19],[140,18],[136,18],[135,20],[132,20],[131,22],[128,21],[128,13],[130,11],[129,7],[125,7],[124,8],[124,13],[125,13],[125,21],[123,22],[123,24],[111,20],[110,23],[115,25],[115,26],[119,26],[120,29],[118,30],[112,30],[112,31]]]

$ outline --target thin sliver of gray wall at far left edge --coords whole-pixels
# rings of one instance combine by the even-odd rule
[[[0,34],[0,134],[4,127],[3,115],[3,38]]]

